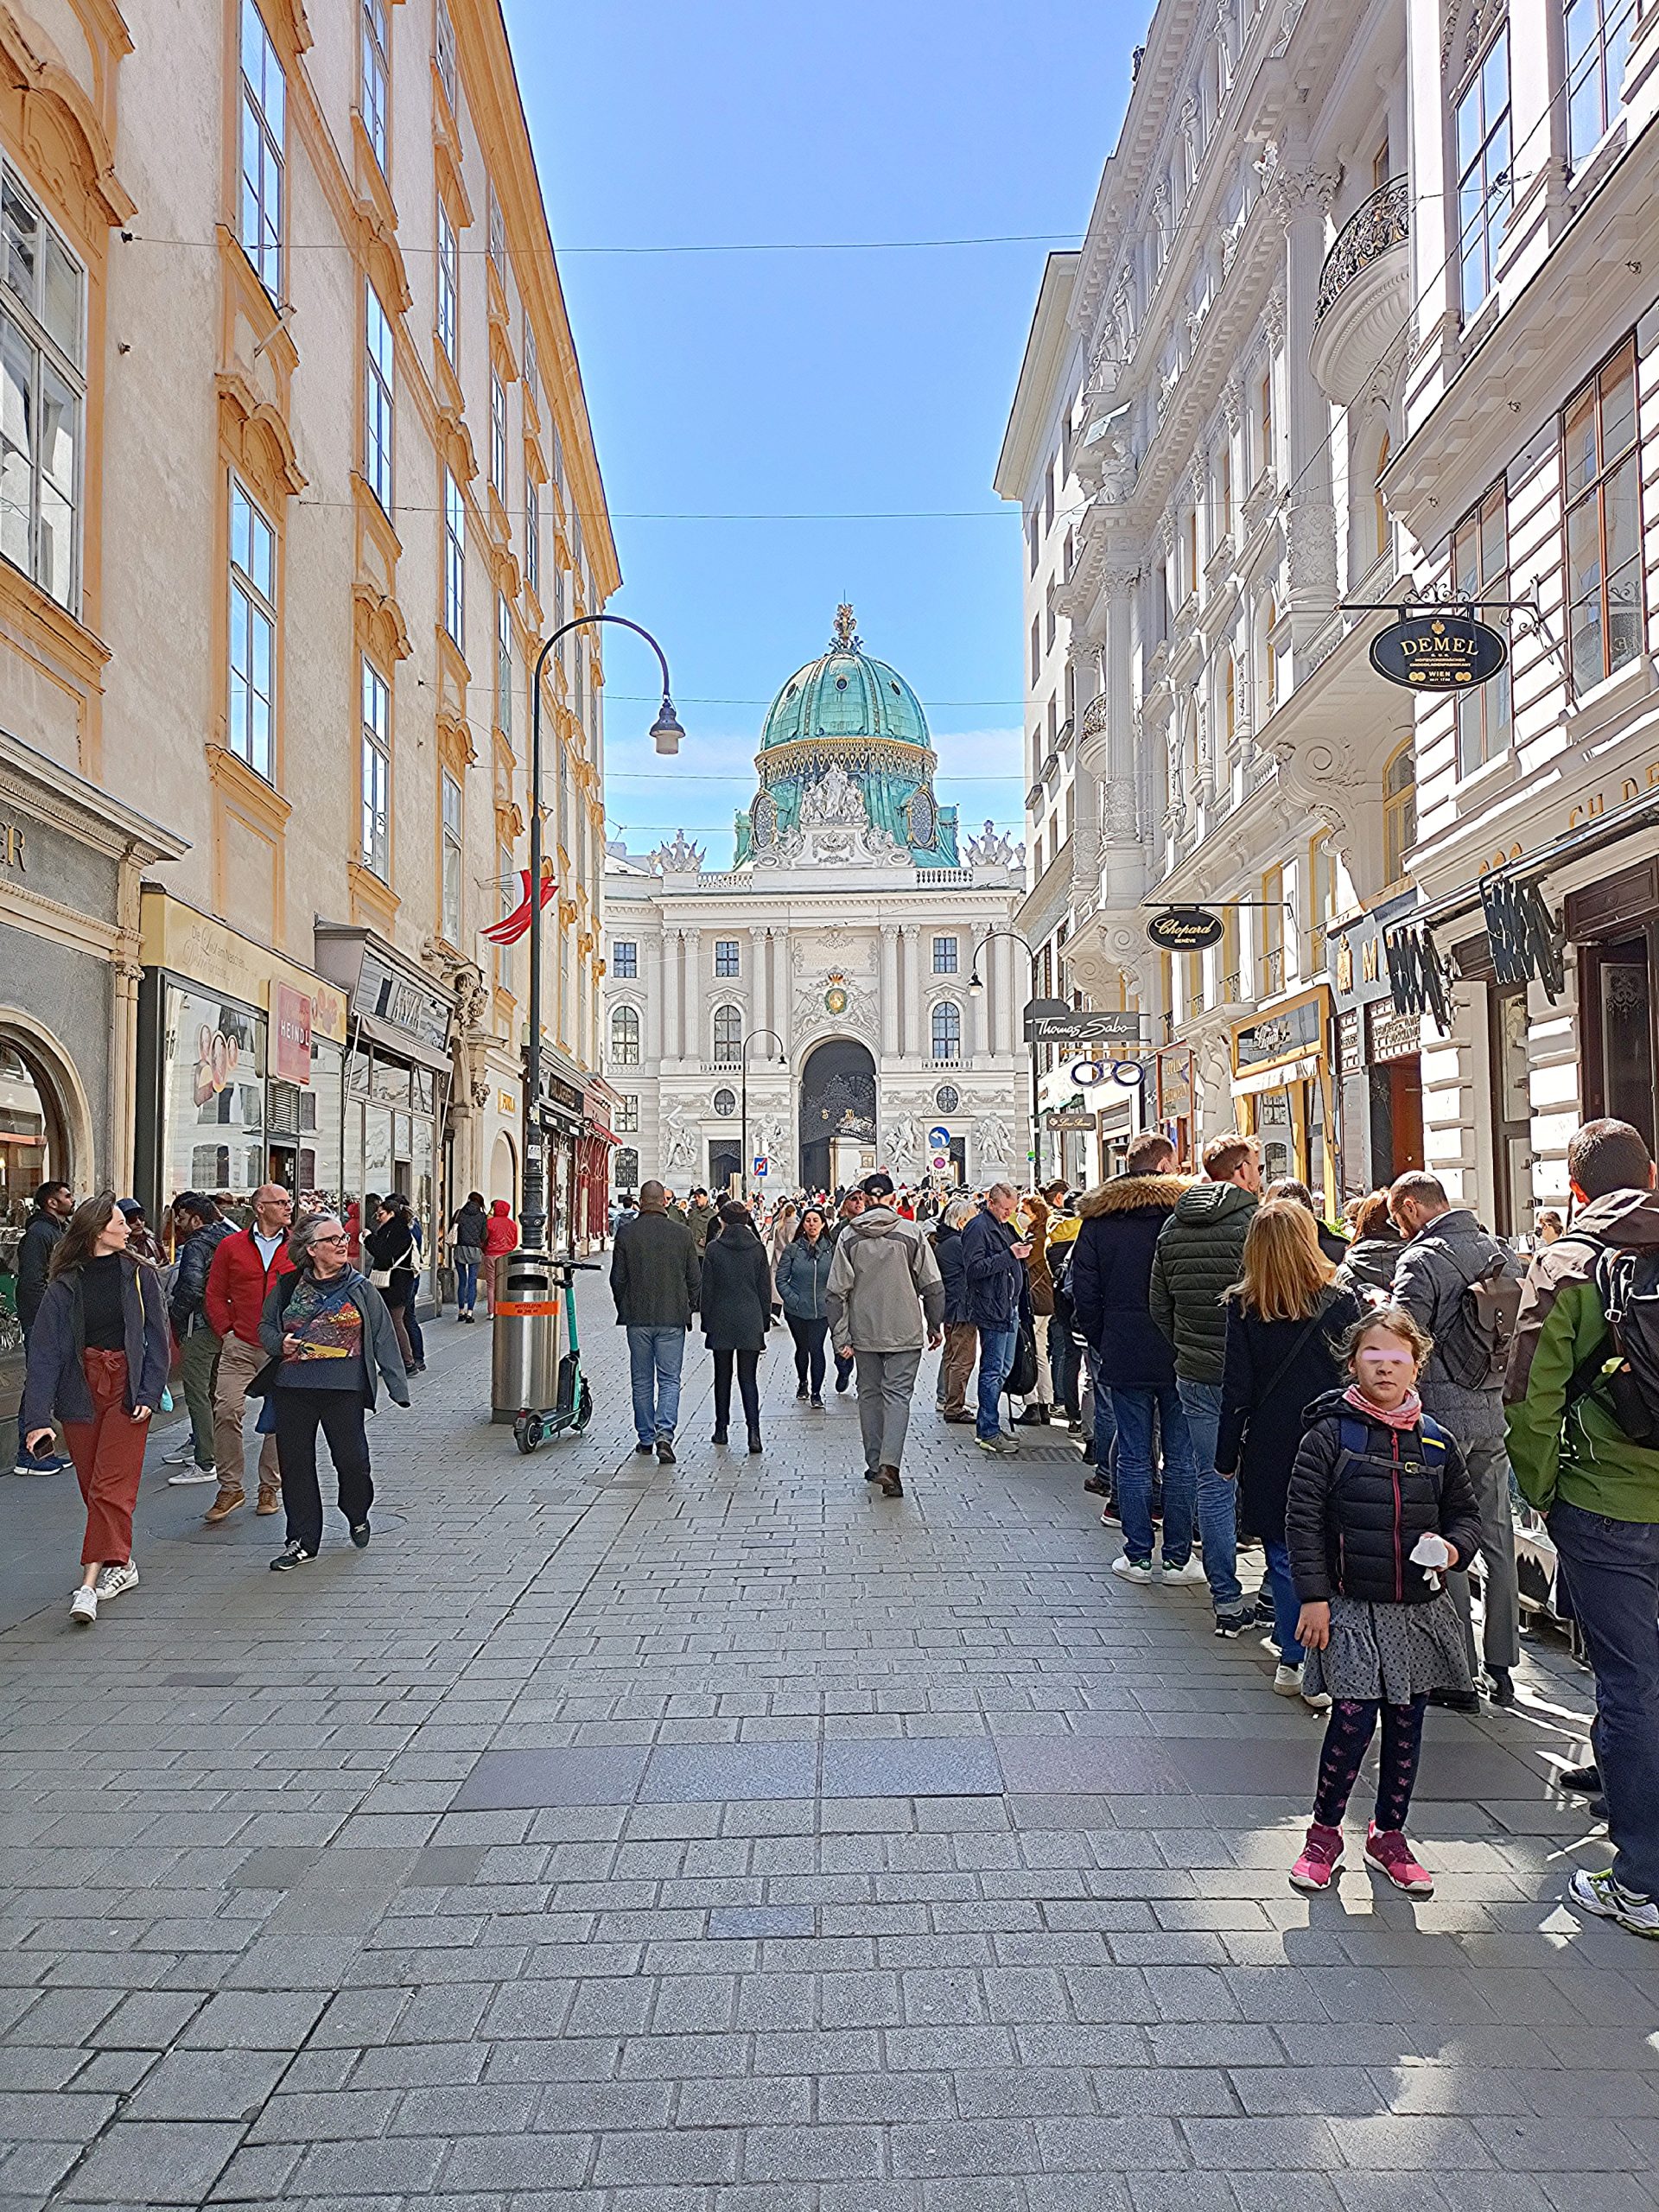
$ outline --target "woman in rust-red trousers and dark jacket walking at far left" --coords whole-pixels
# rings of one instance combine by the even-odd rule
[[[113,1192],[84,1199],[51,1254],[22,1391],[31,1442],[51,1440],[53,1413],[62,1420],[86,1500],[82,1579],[69,1604],[80,1628],[97,1619],[100,1599],[137,1582],[133,1506],[170,1352],[161,1276],[126,1250]]]

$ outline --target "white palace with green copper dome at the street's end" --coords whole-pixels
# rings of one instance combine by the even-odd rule
[[[706,872],[684,836],[611,849],[615,1190],[1024,1172],[1022,860],[989,823],[958,843],[933,770],[916,692],[841,608],[765,717],[737,865]]]

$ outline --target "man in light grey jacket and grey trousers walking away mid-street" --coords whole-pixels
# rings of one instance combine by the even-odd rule
[[[883,1498],[902,1498],[909,1400],[922,1340],[945,1340],[945,1283],[927,1237],[894,1210],[891,1177],[867,1175],[858,1188],[865,1210],[836,1237],[825,1285],[830,1340],[838,1360],[852,1354],[858,1367],[865,1482],[880,1482]]]

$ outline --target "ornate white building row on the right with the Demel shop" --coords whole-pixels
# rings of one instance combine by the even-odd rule
[[[1044,276],[1022,925],[1141,1011],[1137,1119],[1327,1210],[1427,1164],[1524,1232],[1577,1117],[1655,1135],[1657,22],[1164,0]],[[1389,686],[1407,597],[1491,602],[1511,666]],[[1482,874],[1559,973],[1493,964]],[[1219,940],[1157,951],[1164,905]]]

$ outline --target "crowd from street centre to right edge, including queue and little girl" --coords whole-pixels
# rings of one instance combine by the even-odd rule
[[[757,1369],[783,1321],[812,1411],[825,1338],[834,1387],[856,1387],[883,1498],[905,1493],[925,1347],[940,1349],[938,1418],[973,1422],[982,1451],[1013,1458],[1024,1429],[1064,1422],[1121,1533],[1113,1573],[1206,1586],[1214,1635],[1263,1632],[1272,1690],[1325,1717],[1290,1876],[1312,1891],[1340,1874],[1378,1730],[1363,1854],[1431,1891],[1405,1834],[1425,1708],[1515,1703],[1524,1500],[1546,1515],[1555,1601],[1597,1686],[1595,1759],[1557,1781],[1606,1803],[1615,1863],[1568,1896],[1659,1936],[1659,1197],[1621,1121],[1577,1130],[1568,1177],[1571,1221],[1542,1214],[1531,1254],[1425,1170],[1327,1223],[1305,1183],[1263,1188],[1248,1135],[1210,1141],[1186,1175],[1146,1133],[1084,1192],[940,1197],[878,1172],[752,1212],[646,1183],[613,1256],[637,1451],[675,1460],[699,1318],[717,1444],[737,1365],[748,1449],[763,1449]]]

